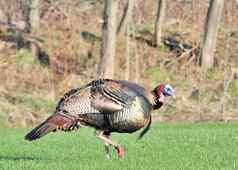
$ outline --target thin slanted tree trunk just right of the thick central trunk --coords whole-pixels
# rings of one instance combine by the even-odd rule
[[[120,24],[117,28],[117,34],[125,33],[125,31],[127,30],[126,27],[128,26],[128,24],[131,21],[132,11],[133,11],[133,7],[135,5],[135,1],[136,0],[127,0],[127,4],[126,4],[126,7],[123,12],[122,19],[121,19]]]

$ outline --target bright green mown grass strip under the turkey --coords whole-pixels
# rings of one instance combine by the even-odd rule
[[[154,124],[141,140],[114,134],[125,149],[118,160],[104,157],[93,130],[23,140],[25,129],[0,129],[0,169],[238,169],[237,124]]]

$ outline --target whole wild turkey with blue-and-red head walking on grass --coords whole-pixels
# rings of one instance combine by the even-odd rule
[[[110,139],[110,133],[133,133],[145,127],[139,136],[142,138],[151,125],[151,110],[159,109],[166,96],[173,96],[170,85],[158,85],[150,92],[128,81],[94,80],[66,93],[55,113],[28,133],[25,139],[32,141],[49,132],[90,126],[104,141],[107,157],[110,157],[110,145],[121,157],[123,148]]]

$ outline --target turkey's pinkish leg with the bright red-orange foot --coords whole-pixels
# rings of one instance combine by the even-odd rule
[[[97,136],[99,139],[101,139],[101,140],[104,141],[104,143],[105,143],[105,145],[106,145],[105,147],[109,147],[109,145],[112,145],[112,146],[116,149],[118,157],[122,157],[122,156],[124,155],[124,150],[123,150],[123,148],[122,148],[120,145],[114,143],[114,142],[109,138],[109,136],[106,136],[106,135],[104,135],[103,133],[104,133],[103,131],[97,131],[97,132],[96,132],[96,136]],[[109,148],[107,148],[107,149],[109,150]],[[107,152],[107,149],[106,149],[106,152]]]

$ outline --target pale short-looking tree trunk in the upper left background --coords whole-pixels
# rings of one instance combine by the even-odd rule
[[[40,27],[40,0],[32,0],[30,4],[29,22],[31,31],[37,31]]]

